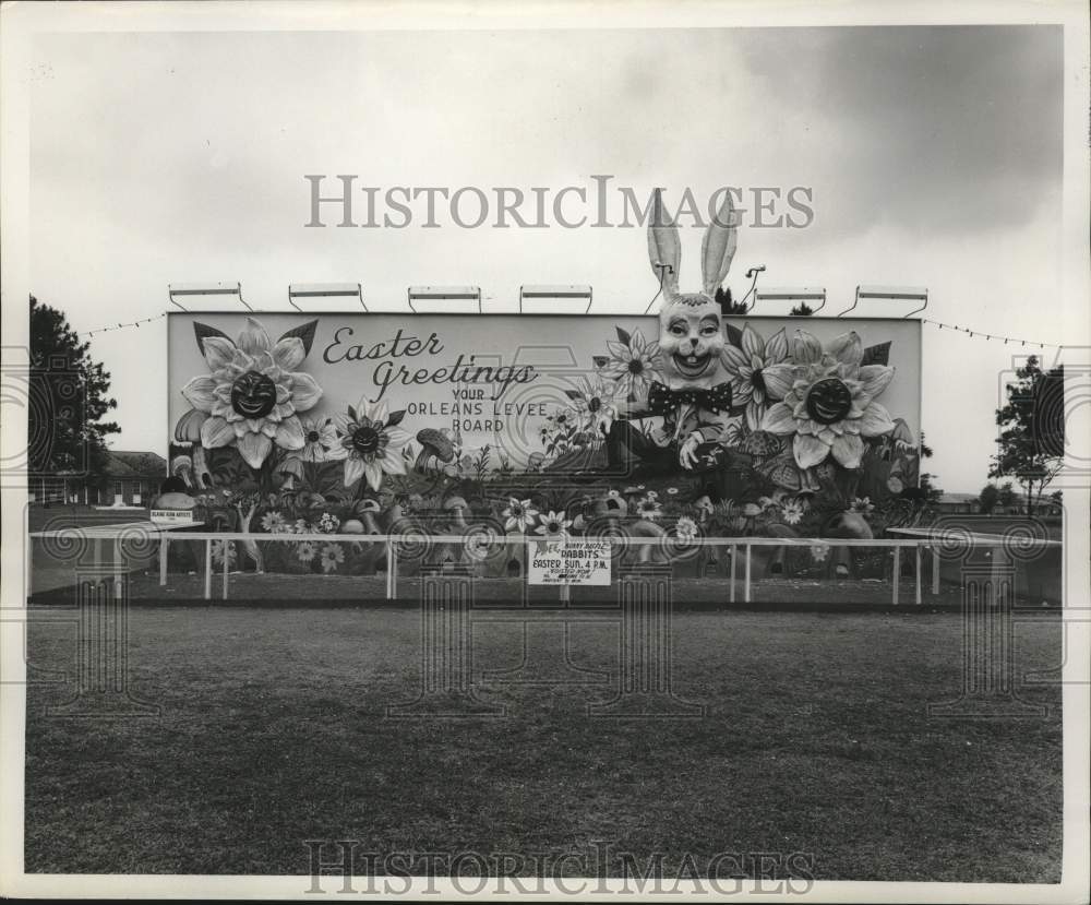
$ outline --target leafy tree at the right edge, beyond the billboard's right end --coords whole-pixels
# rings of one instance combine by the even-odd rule
[[[1015,478],[1026,490],[1030,517],[1042,492],[1060,471],[1064,369],[1043,371],[1038,357],[1032,355],[1016,370],[1016,381],[1007,384],[1005,391],[1007,404],[996,409],[999,451],[993,456],[988,476]]]

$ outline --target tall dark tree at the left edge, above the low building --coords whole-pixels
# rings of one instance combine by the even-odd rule
[[[28,465],[32,473],[75,472],[101,477],[106,437],[121,428],[103,421],[117,401],[107,396],[110,373],[94,361],[89,343],[63,312],[31,296]]]

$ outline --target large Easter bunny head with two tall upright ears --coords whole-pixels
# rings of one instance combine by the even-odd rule
[[[662,197],[656,189],[648,223],[648,258],[663,290],[659,349],[663,374],[672,390],[708,388],[723,379],[722,312],[715,295],[731,267],[736,242],[731,193],[724,191],[723,203],[700,247],[704,288],[699,293],[679,293],[679,229],[663,210]]]

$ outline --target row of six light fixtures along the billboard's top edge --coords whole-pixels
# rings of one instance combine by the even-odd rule
[[[187,305],[193,302],[226,298],[237,300],[248,311],[254,310],[242,297],[242,285],[239,283],[171,284],[168,287],[168,295],[171,303],[182,311],[189,311],[190,308]],[[467,310],[477,310],[481,313],[482,311],[481,288],[479,286],[410,286],[406,296],[409,309],[418,314]],[[776,303],[778,307],[805,305],[813,314],[817,314],[826,306],[825,288],[756,289],[753,296],[754,302],[747,313],[753,312],[754,308],[763,302],[766,306]],[[355,307],[352,305],[352,300],[355,300],[364,311],[368,310],[363,300],[363,287],[359,283],[292,283],[288,286],[288,303],[297,311],[319,310],[309,308],[309,306],[315,303],[327,306],[332,299],[347,300],[349,307]],[[528,285],[519,287],[520,313],[589,313],[591,301],[590,286]],[[908,286],[858,286],[852,305],[835,317],[849,313],[861,301],[898,302],[898,308],[902,310],[908,305],[914,305],[915,307],[908,313],[900,314],[909,318],[927,307],[928,290]]]

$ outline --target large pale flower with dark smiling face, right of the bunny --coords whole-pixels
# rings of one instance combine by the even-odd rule
[[[865,437],[894,430],[890,414],[875,397],[894,378],[886,365],[861,367],[863,346],[850,332],[823,348],[817,337],[796,331],[793,358],[796,368],[782,402],[762,419],[762,430],[794,434],[795,464],[810,468],[832,453],[846,468],[859,468]]]

